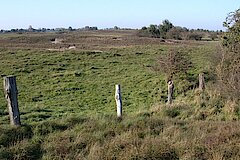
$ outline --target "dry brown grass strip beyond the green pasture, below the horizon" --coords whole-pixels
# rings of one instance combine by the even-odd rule
[[[61,39],[53,44],[52,40]],[[109,50],[138,45],[160,45],[191,43],[187,41],[161,42],[158,38],[138,37],[136,30],[130,31],[74,31],[66,33],[26,33],[0,35],[0,49],[55,49],[61,50],[75,45],[77,50]]]

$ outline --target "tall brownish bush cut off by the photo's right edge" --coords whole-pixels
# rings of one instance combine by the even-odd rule
[[[222,93],[232,100],[240,100],[240,9],[229,13],[224,22],[227,28],[222,41],[224,47],[217,75]]]

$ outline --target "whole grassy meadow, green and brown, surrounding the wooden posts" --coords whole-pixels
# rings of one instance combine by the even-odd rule
[[[53,44],[54,38],[63,42]],[[161,42],[135,31],[1,34],[0,75],[17,78],[23,125],[9,125],[0,87],[0,159],[239,159],[239,105],[224,103],[212,89],[218,47],[218,41]],[[175,77],[169,107],[158,59],[173,49],[192,67]]]

